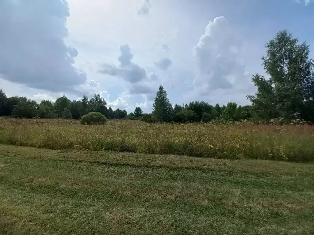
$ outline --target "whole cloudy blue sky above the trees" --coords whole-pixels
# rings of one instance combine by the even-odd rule
[[[314,0],[1,0],[0,89],[40,102],[99,93],[108,107],[239,105],[265,44],[287,29],[310,45]]]

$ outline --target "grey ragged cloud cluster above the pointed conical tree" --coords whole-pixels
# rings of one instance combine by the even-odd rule
[[[120,46],[121,55],[118,57],[119,66],[111,64],[102,64],[99,73],[114,77],[123,78],[130,83],[129,94],[150,94],[153,87],[157,87],[156,81],[159,77],[156,73],[148,74],[147,71],[138,64],[133,63],[133,54],[129,45]]]

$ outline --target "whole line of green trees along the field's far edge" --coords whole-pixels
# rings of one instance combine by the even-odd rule
[[[95,94],[81,100],[69,100],[65,95],[55,102],[43,100],[37,103],[26,97],[6,97],[0,90],[0,115],[17,118],[73,118],[79,119],[88,112],[100,112],[107,119],[141,119],[145,122],[209,122],[213,119],[241,120],[254,118],[269,121],[281,118],[289,121],[296,113],[308,122],[314,122],[314,61],[309,59],[309,45],[299,44],[297,38],[286,30],[279,31],[266,46],[262,58],[266,74],[254,74],[252,82],[257,87],[255,95],[248,95],[252,104],[238,106],[229,102],[226,106],[210,105],[205,101],[174,106],[167,92],[160,86],[152,113],[143,113],[140,107],[134,112],[107,108],[106,100]]]

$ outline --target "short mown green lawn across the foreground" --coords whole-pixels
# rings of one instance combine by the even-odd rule
[[[313,234],[314,164],[0,145],[0,234]]]

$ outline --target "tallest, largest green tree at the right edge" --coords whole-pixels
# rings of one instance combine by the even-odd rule
[[[314,65],[309,52],[305,42],[299,44],[286,30],[279,31],[266,44],[262,60],[269,79],[253,75],[257,93],[247,96],[258,118],[290,119],[295,112],[306,113],[306,119],[314,117]]]

